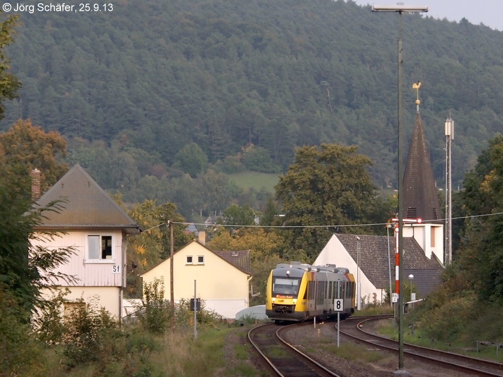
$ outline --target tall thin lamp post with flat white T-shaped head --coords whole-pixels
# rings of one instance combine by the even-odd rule
[[[389,5],[389,6],[379,6],[373,5],[372,12],[398,12],[398,281],[399,281],[399,293],[398,293],[398,371],[396,374],[406,374],[408,373],[403,370],[403,295],[400,294],[403,291],[403,195],[402,195],[402,185],[403,185],[403,161],[402,161],[402,12],[407,13],[419,13],[428,12],[427,6],[405,6],[405,5]]]

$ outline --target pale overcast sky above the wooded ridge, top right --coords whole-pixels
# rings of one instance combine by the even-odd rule
[[[503,0],[354,0],[358,5],[427,5],[430,17],[459,22],[483,23],[491,29],[503,30]]]

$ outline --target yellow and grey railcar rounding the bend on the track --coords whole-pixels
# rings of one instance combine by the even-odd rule
[[[342,310],[334,310],[336,299],[343,299]],[[354,311],[355,278],[347,268],[291,262],[276,265],[269,274],[266,315],[277,323],[323,320],[337,313],[346,318]]]

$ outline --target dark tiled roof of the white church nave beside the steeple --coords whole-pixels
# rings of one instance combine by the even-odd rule
[[[358,240],[354,234],[336,234],[347,252],[357,260]],[[395,284],[395,239],[390,236],[360,237],[360,269],[376,288],[389,289],[389,269],[391,269],[391,284]],[[389,239],[389,259],[388,259]],[[426,296],[431,289],[440,283],[440,273],[443,266],[434,257],[426,257],[421,246],[412,237],[403,237],[404,276],[414,275],[414,286],[421,297]],[[416,278],[417,276],[417,278]]]

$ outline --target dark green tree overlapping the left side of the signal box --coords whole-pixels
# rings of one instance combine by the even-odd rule
[[[44,304],[40,291],[53,285],[51,278],[72,281],[71,276],[54,272],[73,253],[71,247],[47,249],[32,241],[57,237],[56,232],[40,232],[44,213],[60,211],[63,202],[32,208],[30,178],[20,168],[3,169],[0,174],[0,290],[17,298],[20,318],[27,320],[34,306]]]

